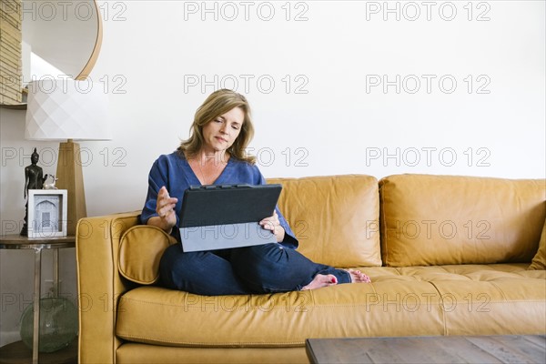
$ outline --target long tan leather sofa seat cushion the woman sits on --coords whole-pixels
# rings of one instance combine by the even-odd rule
[[[140,287],[120,298],[116,335],[167,346],[270,348],[308,338],[544,334],[546,272],[527,267],[362,268],[373,283],[271,295]]]

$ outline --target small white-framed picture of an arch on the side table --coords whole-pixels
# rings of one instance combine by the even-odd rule
[[[66,237],[66,189],[28,190],[28,238]]]

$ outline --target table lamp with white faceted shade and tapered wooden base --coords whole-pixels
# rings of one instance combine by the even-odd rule
[[[68,235],[87,216],[80,147],[75,140],[110,140],[107,96],[100,84],[45,78],[28,85],[25,138],[59,140],[56,187],[67,192]]]

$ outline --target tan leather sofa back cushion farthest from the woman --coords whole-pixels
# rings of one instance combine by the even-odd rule
[[[545,180],[398,175],[379,181],[389,267],[530,262],[546,215]]]

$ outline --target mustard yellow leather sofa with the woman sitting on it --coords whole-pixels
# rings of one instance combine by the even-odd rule
[[[301,253],[372,283],[219,297],[160,288],[165,233],[137,226],[138,212],[88,217],[76,241],[80,361],[307,362],[307,338],[546,333],[545,180],[269,182],[283,185]]]

